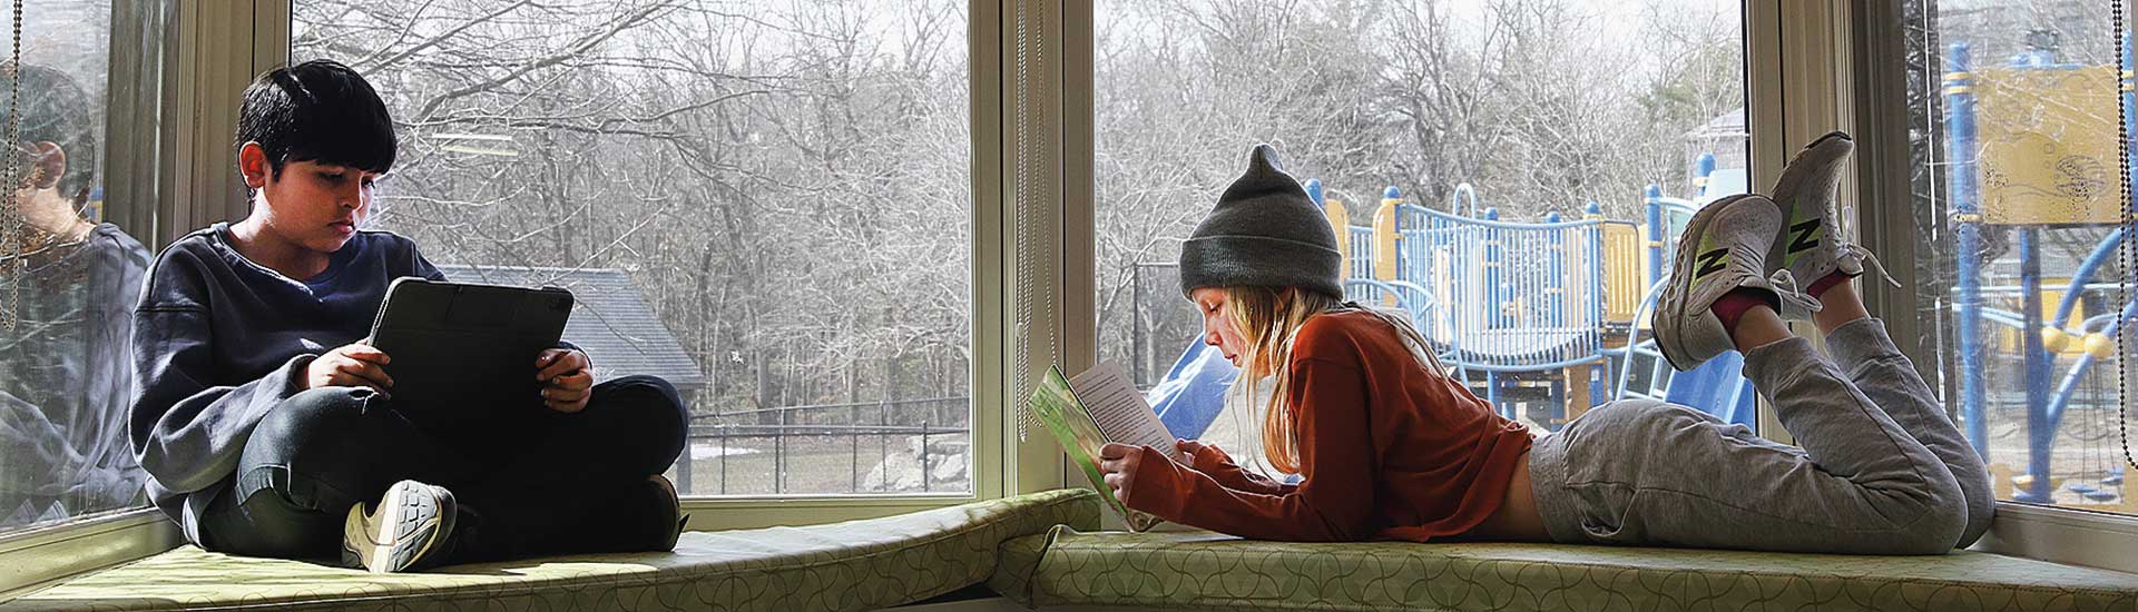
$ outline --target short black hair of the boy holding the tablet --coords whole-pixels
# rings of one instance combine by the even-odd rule
[[[261,143],[272,175],[310,160],[361,171],[393,169],[393,118],[363,75],[310,60],[259,75],[237,107],[237,146]]]

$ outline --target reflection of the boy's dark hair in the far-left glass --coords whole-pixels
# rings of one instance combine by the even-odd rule
[[[6,96],[6,88],[21,86],[21,133],[15,137],[17,146],[26,143],[58,143],[66,152],[66,175],[60,175],[60,193],[71,201],[83,201],[90,188],[96,186],[96,118],[94,109],[100,109],[100,101],[92,101],[88,90],[81,88],[73,77],[56,68],[38,64],[21,64],[13,68],[11,64],[0,64],[0,101]],[[6,137],[6,122],[13,109],[0,103],[0,139]],[[30,175],[28,156],[24,165],[17,167],[21,175]]]

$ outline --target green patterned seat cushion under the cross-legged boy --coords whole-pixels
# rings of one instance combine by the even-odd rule
[[[673,554],[588,554],[376,576],[184,546],[0,610],[874,610],[994,573],[1005,539],[1097,529],[1099,496],[1050,490],[819,526],[686,533]]]

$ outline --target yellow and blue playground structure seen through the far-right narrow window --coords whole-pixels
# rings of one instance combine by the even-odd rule
[[[1954,43],[1946,56],[1956,394],[1969,443],[1990,462],[1999,496],[2014,501],[2138,511],[2125,494],[2123,456],[2106,449],[2117,439],[2112,428],[2123,424],[2108,426],[2117,413],[2114,392],[2104,389],[2112,374],[2097,368],[2117,357],[2117,332],[2138,317],[2138,302],[2123,291],[2134,270],[2112,263],[2132,240],[2119,184],[2127,178],[2117,175],[2119,163],[2134,160],[2129,150],[2119,150],[2117,131],[2138,135],[2129,120],[2138,116],[2129,36],[2119,56],[2121,66],[2082,66],[2035,49],[2014,56],[2008,66],[1982,68],[1973,66],[1967,43]],[[2121,88],[2108,90],[2110,81]],[[2121,107],[2121,124],[2104,111],[2112,105]],[[1986,257],[1990,231],[2010,235],[2016,253]],[[2067,276],[2055,278],[2044,270],[2044,240],[2052,231],[2106,235]],[[2010,259],[2016,259],[2018,282],[1986,282],[1993,267]],[[2044,291],[2044,282],[2061,291]],[[2052,315],[2048,302],[2057,304]],[[2016,362],[2016,394],[1993,394],[1997,357]],[[2108,400],[2080,407],[2082,396]],[[1990,445],[1993,409],[2014,404],[2025,413],[2025,464],[2018,469]],[[2072,419],[2072,413],[2082,417]],[[2095,432],[2082,430],[2087,426]],[[2076,469],[2057,469],[2059,434],[2082,445]]]

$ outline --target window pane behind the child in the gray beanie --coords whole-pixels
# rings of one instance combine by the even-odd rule
[[[1745,190],[1738,2],[1103,0],[1095,47],[1101,359],[1174,434],[1259,456],[1176,270],[1257,141],[1326,199],[1347,297],[1403,308],[1501,413],[1742,387],[1674,381],[1640,310],[1668,257],[1644,235]],[[1755,422],[1751,392],[1700,407]]]

